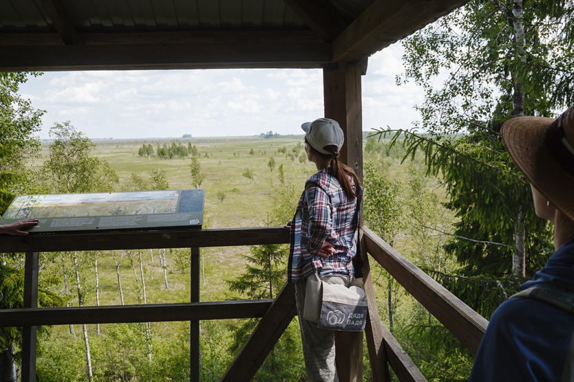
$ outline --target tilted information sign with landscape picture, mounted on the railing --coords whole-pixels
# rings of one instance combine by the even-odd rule
[[[0,225],[37,218],[30,232],[201,228],[204,199],[204,190],[17,196]]]

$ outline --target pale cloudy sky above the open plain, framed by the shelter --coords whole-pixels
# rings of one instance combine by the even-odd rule
[[[423,91],[395,85],[403,72],[396,43],[369,58],[362,77],[363,131],[410,128]],[[23,98],[45,110],[41,139],[70,121],[92,139],[301,134],[323,117],[321,69],[56,71],[21,85]]]

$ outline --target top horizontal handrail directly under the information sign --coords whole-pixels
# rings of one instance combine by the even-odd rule
[[[6,236],[0,252],[98,251],[114,249],[231,247],[289,243],[283,227],[226,229],[143,229],[140,231],[58,232]]]

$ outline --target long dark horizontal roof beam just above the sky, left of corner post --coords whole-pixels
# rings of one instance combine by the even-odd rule
[[[0,71],[100,69],[318,68],[328,43],[6,46]]]

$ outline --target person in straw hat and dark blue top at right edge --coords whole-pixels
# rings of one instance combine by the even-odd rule
[[[574,381],[574,106],[556,120],[512,118],[502,139],[536,214],[554,225],[556,251],[496,309],[469,381]]]

